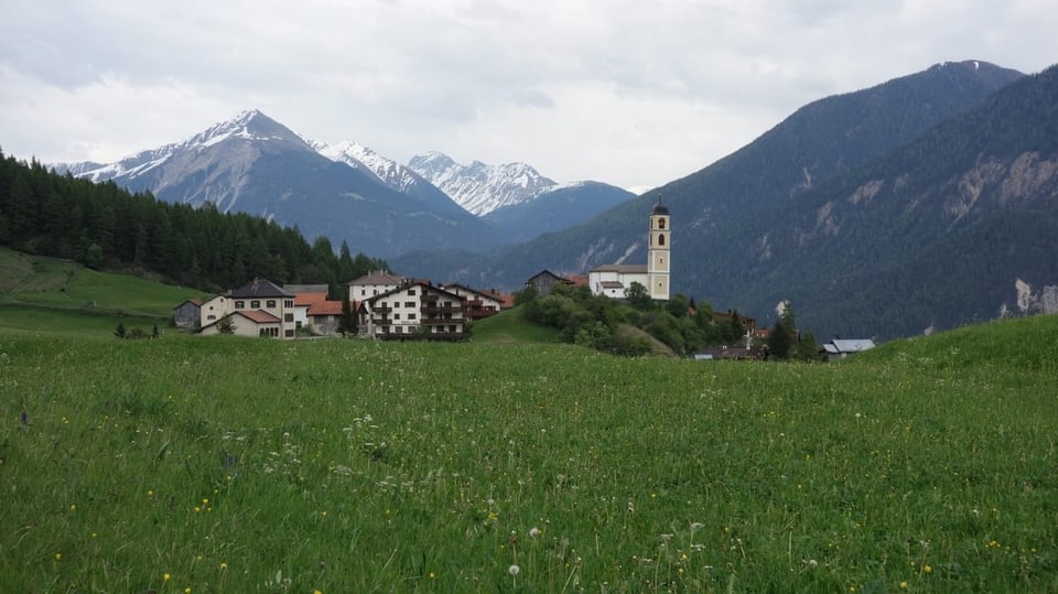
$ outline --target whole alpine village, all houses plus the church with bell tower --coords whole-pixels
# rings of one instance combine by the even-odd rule
[[[671,222],[660,196],[650,212],[646,264],[603,264],[587,274],[557,274],[541,270],[526,280],[536,295],[547,296],[557,285],[586,287],[593,295],[626,299],[639,285],[651,300],[669,300]],[[468,324],[515,305],[515,295],[461,283],[434,284],[390,271],[376,270],[348,281],[343,300],[328,299],[325,284],[287,284],[267,279],[208,300],[187,300],[173,312],[176,327],[201,335],[234,334],[280,339],[355,335],[381,341],[451,341],[468,336]],[[346,305],[347,303],[347,305]],[[344,310],[348,307],[348,311]],[[759,359],[767,357],[768,328],[737,312],[716,312],[717,323],[737,316],[743,337],[736,343],[694,353],[695,359]],[[345,321],[343,321],[345,318]],[[828,360],[872,348],[870,339],[835,339],[822,346]]]

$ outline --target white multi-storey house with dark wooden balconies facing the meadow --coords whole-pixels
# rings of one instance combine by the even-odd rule
[[[463,299],[427,282],[411,282],[360,302],[361,335],[382,341],[462,341]]]

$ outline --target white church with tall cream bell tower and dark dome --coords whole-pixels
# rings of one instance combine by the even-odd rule
[[[668,301],[671,235],[669,209],[661,204],[661,196],[658,196],[658,203],[650,210],[647,263],[603,264],[592,269],[587,274],[592,293],[624,299],[631,283],[638,282],[647,290],[650,299]]]

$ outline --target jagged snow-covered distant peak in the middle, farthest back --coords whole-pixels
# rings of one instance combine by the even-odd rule
[[[557,185],[526,163],[463,165],[440,152],[413,156],[408,166],[477,216],[530,201]]]

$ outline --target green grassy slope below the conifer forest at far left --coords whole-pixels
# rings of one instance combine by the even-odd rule
[[[149,326],[184,300],[202,296],[194,289],[0,248],[0,331],[114,330],[120,317]],[[52,315],[54,310],[66,312]]]

